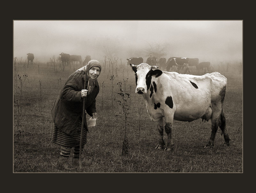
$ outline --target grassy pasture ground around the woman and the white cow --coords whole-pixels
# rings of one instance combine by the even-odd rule
[[[113,70],[108,62],[106,65],[104,61],[102,63],[103,70],[98,79],[100,92],[96,98],[97,125],[89,127],[83,153],[92,164],[83,167],[82,172],[243,172],[243,88],[242,77],[236,68],[229,71],[214,68],[228,79],[224,113],[230,147],[222,146],[224,138],[219,128],[214,147],[204,149],[211,135],[211,121],[204,123],[198,119],[189,123],[174,120],[174,146],[172,151],[165,152],[155,149],[158,141],[156,123],[150,120],[143,97],[135,94],[132,69],[117,62],[117,69],[113,66]],[[62,71],[58,63],[55,67],[52,63],[40,62],[29,66],[25,61],[15,64],[13,172],[66,172],[54,167],[60,147],[50,142],[53,129],[50,110],[68,76],[79,67],[74,64]],[[202,75],[204,72],[193,71],[191,74]],[[110,80],[111,75],[114,75],[114,80]],[[117,94],[120,91],[118,82],[122,82],[124,92],[131,94],[127,100],[128,156],[121,155],[125,126],[119,116],[123,110],[117,102],[121,99]],[[164,140],[167,140],[165,132]]]

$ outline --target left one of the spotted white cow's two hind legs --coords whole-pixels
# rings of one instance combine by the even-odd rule
[[[204,146],[204,148],[214,146],[215,135],[218,130],[219,123],[220,123],[221,103],[220,102],[217,102],[217,103],[212,102],[211,107],[212,107],[212,118],[211,118],[212,119],[212,133],[211,133],[211,137],[210,137],[208,143]]]

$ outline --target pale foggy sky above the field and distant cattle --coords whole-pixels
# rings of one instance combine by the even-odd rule
[[[49,61],[60,53],[103,60],[147,60],[146,49],[164,45],[164,57],[242,61],[242,20],[14,20],[13,57]],[[125,62],[124,61],[124,62]]]

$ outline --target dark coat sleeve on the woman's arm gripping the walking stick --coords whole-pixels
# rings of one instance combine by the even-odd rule
[[[83,98],[81,97],[80,89],[81,80],[77,77],[71,78],[63,87],[60,94],[60,100],[71,101],[71,102],[81,102]]]

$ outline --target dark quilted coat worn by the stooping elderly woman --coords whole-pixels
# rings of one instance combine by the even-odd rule
[[[81,90],[84,89],[84,75],[84,71],[78,71],[68,77],[51,111],[54,124],[58,129],[70,136],[74,134],[77,125],[83,117],[83,98],[81,97]],[[97,112],[95,98],[99,91],[99,83],[95,81],[92,93],[85,97],[85,110],[91,117],[92,113]],[[84,127],[87,127],[87,125],[84,125]]]

